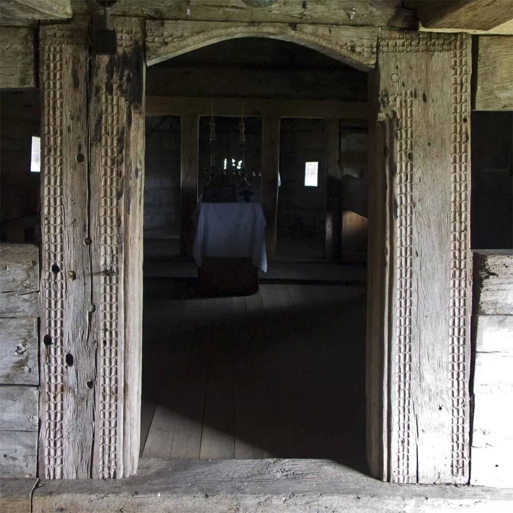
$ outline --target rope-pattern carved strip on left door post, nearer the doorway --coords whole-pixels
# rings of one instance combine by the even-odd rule
[[[117,190],[119,186],[120,97],[114,84],[112,94],[102,92],[101,134],[101,332],[100,401],[98,415],[99,472],[103,478],[116,477],[119,391],[119,232],[121,221]]]

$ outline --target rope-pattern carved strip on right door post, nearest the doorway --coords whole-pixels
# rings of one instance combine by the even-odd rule
[[[410,428],[411,428],[411,225],[413,214],[413,92],[405,91],[395,99],[398,114],[397,130],[397,175],[396,175],[396,337],[397,356],[395,362],[397,424],[397,453],[392,461],[393,481],[409,482],[410,472]],[[394,206],[394,208],[396,208]]]

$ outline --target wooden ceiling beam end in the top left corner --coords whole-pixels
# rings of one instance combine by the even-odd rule
[[[19,25],[34,21],[69,19],[73,15],[71,0],[2,0],[0,24]]]

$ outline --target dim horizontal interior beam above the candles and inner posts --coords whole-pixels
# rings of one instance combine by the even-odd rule
[[[146,96],[146,115],[198,115],[239,117],[302,117],[313,119],[368,119],[367,102],[308,100],[254,100],[253,98],[187,98]]]

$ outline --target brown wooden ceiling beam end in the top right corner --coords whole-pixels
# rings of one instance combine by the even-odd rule
[[[425,28],[489,30],[513,18],[513,0],[408,0]]]

